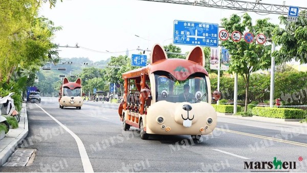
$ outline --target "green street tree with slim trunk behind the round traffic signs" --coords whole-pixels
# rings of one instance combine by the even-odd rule
[[[239,31],[240,33],[251,32],[254,35],[264,33],[266,37],[271,38],[271,31],[276,28],[274,24],[269,23],[269,18],[257,19],[256,24],[252,24],[252,18],[245,13],[242,16],[233,14],[229,18],[222,19],[222,26],[232,33]],[[249,101],[248,92],[250,86],[250,75],[252,72],[260,69],[265,70],[271,64],[271,45],[247,44],[244,40],[234,42],[229,40],[223,41],[222,46],[229,50],[231,54],[231,62],[229,71],[243,76],[245,81],[245,112],[247,111],[247,103]]]

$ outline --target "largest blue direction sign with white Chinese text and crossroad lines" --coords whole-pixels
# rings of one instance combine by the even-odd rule
[[[173,43],[218,47],[218,24],[174,20]]]

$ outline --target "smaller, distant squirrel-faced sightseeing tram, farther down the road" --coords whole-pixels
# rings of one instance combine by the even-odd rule
[[[81,93],[82,86],[80,78],[78,78],[76,82],[70,82],[67,78],[64,78],[59,91],[60,108],[76,107],[76,109],[81,110],[83,104]]]

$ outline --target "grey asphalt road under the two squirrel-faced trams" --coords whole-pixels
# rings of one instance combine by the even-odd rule
[[[307,171],[306,126],[218,118],[213,134],[201,142],[161,135],[142,140],[136,128],[122,130],[116,104],[85,102],[81,110],[62,110],[56,98],[42,98],[28,103],[27,110],[29,135],[20,147],[36,148],[35,160],[26,167],[0,167],[1,172],[84,172],[84,167],[95,172],[250,172],[259,169],[245,169],[244,162],[274,157],[296,162],[296,169],[260,171]],[[75,138],[90,166],[82,166],[87,157]]]

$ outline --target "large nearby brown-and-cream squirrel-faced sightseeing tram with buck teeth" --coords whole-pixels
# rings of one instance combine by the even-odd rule
[[[150,64],[124,73],[124,95],[119,106],[124,131],[140,128],[142,139],[149,134],[191,135],[200,139],[216,126],[205,56],[195,47],[186,59],[168,59],[160,45],[153,46]],[[208,94],[210,93],[210,94]]]

